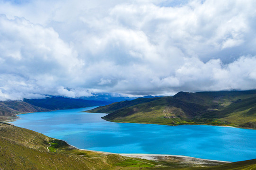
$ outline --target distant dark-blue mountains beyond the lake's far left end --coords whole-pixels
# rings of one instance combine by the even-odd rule
[[[45,99],[24,99],[23,101],[0,102],[0,121],[15,117],[19,113],[75,109],[102,106],[112,102],[72,99],[64,97],[46,97]]]

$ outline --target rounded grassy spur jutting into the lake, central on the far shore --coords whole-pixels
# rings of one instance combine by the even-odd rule
[[[173,124],[183,122],[182,119],[191,119],[197,116],[203,109],[205,107],[199,104],[182,102],[172,97],[161,97],[155,101],[124,108],[122,111],[117,110],[105,116],[104,119],[125,122],[144,121],[156,124]]]

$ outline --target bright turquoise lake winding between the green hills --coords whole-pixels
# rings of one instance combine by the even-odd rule
[[[243,161],[256,158],[256,130],[206,125],[165,126],[114,123],[91,108],[18,115],[12,122],[62,139],[80,149],[111,153],[154,153]]]

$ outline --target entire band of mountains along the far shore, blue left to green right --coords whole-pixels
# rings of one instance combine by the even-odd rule
[[[114,122],[256,128],[256,90],[179,92],[172,97],[148,96],[110,103],[112,102],[56,96],[4,101],[0,102],[0,121],[19,113],[101,106],[87,112],[110,113],[103,119]]]

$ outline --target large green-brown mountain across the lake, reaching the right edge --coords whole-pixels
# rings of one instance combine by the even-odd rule
[[[172,97],[115,102],[86,112],[110,113],[102,119],[114,122],[256,128],[256,90],[179,92]]]

